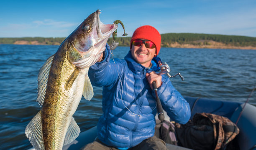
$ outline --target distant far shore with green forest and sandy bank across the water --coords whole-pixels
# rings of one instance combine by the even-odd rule
[[[161,34],[161,37],[161,47],[256,49],[256,37],[196,33],[166,33]],[[0,38],[0,44],[60,45],[64,39],[65,37]],[[118,37],[115,42],[119,42],[120,46],[129,46],[130,40],[131,37]],[[108,43],[112,41],[110,37]]]

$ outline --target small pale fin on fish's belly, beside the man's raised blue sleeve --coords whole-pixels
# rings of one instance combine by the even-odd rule
[[[86,68],[85,71],[88,72],[89,68]],[[92,83],[86,73],[85,80],[84,80],[84,90],[83,90],[83,96],[87,100],[91,100],[93,97],[93,88]]]

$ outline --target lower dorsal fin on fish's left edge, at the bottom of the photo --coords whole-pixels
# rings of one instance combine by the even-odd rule
[[[42,132],[41,111],[39,111],[28,123],[25,134],[36,150],[44,150],[44,139]]]

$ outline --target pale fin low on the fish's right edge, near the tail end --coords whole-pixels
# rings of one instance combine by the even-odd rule
[[[67,129],[63,145],[68,145],[69,143],[72,143],[73,140],[75,140],[78,137],[79,133],[80,128],[77,125],[77,122],[75,122],[74,117],[72,117],[71,122],[69,124],[69,128]]]

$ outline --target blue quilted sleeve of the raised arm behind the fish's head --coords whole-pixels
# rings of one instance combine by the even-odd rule
[[[115,59],[115,62],[110,60],[111,55],[108,44],[106,45],[104,54],[104,60],[92,65],[88,72],[92,85],[98,87],[113,85],[113,83],[118,79],[118,75],[122,73],[122,66],[123,63],[125,63],[119,59]]]

